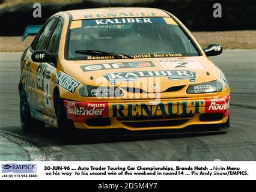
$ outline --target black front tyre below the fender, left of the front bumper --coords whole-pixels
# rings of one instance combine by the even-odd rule
[[[75,126],[73,121],[67,118],[66,109],[64,107],[64,102],[61,98],[58,98],[56,106],[56,116],[58,123],[58,133],[59,139],[62,141],[70,141],[73,139],[75,134]]]

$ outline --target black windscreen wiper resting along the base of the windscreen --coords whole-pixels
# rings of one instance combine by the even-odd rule
[[[126,56],[127,58],[133,59],[132,56],[123,53],[105,52],[101,50],[76,50],[75,53],[91,56],[114,56],[115,58],[122,58],[122,56]]]

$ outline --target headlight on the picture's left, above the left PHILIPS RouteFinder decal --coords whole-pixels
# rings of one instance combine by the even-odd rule
[[[121,97],[123,92],[114,86],[88,86],[84,85],[78,91],[82,97]]]

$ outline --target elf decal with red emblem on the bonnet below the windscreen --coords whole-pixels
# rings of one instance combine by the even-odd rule
[[[115,68],[154,67],[153,62],[118,62],[112,64],[81,65],[82,71],[112,70]]]

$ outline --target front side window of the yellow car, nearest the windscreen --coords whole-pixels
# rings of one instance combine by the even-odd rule
[[[47,50],[50,53],[58,53],[59,49],[59,41],[61,40],[61,32],[62,32],[63,20],[59,19],[58,24],[56,25],[52,37],[50,37],[49,46]]]

